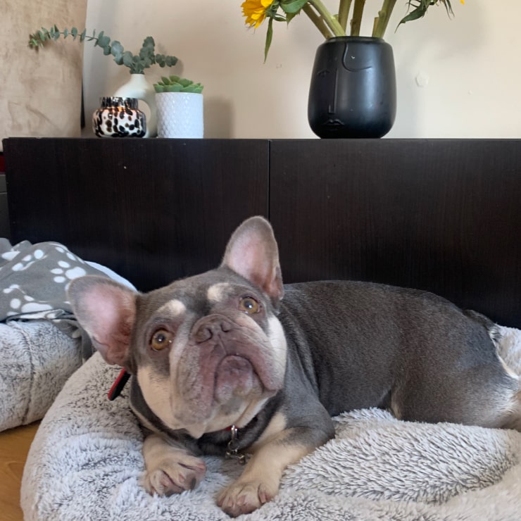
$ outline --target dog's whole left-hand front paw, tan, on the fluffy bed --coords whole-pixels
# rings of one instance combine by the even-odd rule
[[[142,484],[149,494],[171,496],[192,490],[206,474],[206,465],[187,451],[165,444],[158,451],[144,451],[146,472]]]

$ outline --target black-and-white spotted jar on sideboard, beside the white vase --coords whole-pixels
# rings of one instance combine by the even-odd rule
[[[137,98],[104,97],[92,115],[92,130],[99,137],[143,137],[146,116],[137,108]]]

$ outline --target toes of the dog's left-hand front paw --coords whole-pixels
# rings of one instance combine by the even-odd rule
[[[197,487],[205,473],[206,465],[199,458],[190,458],[182,463],[163,462],[163,465],[146,470],[143,486],[149,494],[171,496]]]

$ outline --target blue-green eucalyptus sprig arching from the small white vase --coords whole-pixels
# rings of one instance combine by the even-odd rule
[[[29,46],[35,48],[43,47],[45,42],[56,42],[60,37],[65,39],[68,36],[72,37],[74,40],[79,39],[80,42],[84,42],[85,40],[87,40],[87,42],[94,42],[94,46],[99,46],[103,49],[103,54],[105,54],[105,56],[112,55],[114,56],[115,63],[130,68],[131,74],[144,74],[144,70],[155,63],[160,67],[172,67],[172,65],[177,63],[177,58],[175,56],[155,54],[156,42],[153,41],[151,36],[147,36],[144,39],[139,54],[132,54],[130,51],[125,51],[120,42],[116,40],[111,42],[111,39],[106,36],[103,31],[101,31],[97,36],[96,31],[94,31],[92,35],[89,36],[87,35],[86,29],[80,33],[76,27],[72,27],[70,30],[65,27],[63,31],[59,30],[56,25],[51,27],[51,29],[45,29],[45,27],[42,27],[42,29],[37,30],[30,35]]]

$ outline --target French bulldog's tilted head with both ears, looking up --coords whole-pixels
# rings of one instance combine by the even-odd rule
[[[283,291],[272,229],[253,217],[234,232],[216,270],[148,294],[93,276],[68,292],[103,358],[137,377],[165,425],[199,438],[244,427],[282,388]]]

